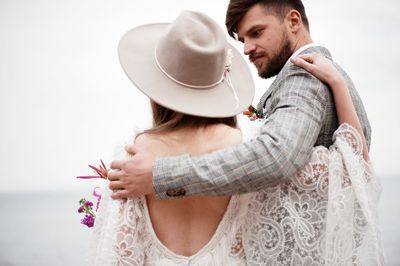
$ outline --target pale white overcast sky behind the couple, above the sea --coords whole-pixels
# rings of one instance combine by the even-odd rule
[[[90,174],[87,164],[109,163],[116,143],[150,123],[147,98],[119,65],[119,38],[183,9],[224,27],[227,3],[0,0],[0,191],[80,188],[74,177]],[[364,101],[377,174],[400,178],[400,2],[304,5],[314,41],[330,49]],[[256,103],[271,81],[253,73]]]

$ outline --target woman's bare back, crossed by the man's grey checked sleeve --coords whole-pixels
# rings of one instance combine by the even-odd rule
[[[212,125],[163,134],[142,134],[136,139],[136,144],[156,156],[199,155],[237,145],[241,139],[239,129]],[[146,196],[158,239],[169,250],[183,256],[195,254],[209,242],[224,216],[229,199],[229,196],[191,196],[156,200],[152,194]]]

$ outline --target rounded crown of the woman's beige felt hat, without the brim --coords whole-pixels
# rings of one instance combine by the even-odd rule
[[[227,40],[205,14],[183,11],[157,44],[155,59],[163,72],[188,87],[207,87],[224,75]]]

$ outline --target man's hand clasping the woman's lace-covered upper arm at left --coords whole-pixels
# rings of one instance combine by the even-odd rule
[[[125,147],[133,155],[129,160],[113,161],[108,173],[113,199],[126,199],[153,193],[153,162],[155,155],[135,145]]]

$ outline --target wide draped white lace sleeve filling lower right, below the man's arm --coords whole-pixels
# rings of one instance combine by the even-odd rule
[[[243,216],[248,265],[384,265],[379,179],[356,129],[341,125],[294,177],[251,193]]]

